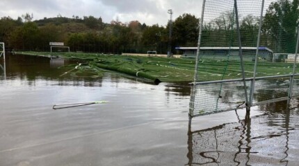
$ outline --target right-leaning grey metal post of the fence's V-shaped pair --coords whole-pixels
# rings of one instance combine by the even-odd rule
[[[264,3],[265,0],[261,2],[261,15],[259,17],[259,34],[257,35],[257,51],[255,53],[255,60],[254,60],[254,71],[253,71],[253,79],[250,86],[250,107],[252,106],[253,101],[253,93],[254,93],[254,86],[255,86],[255,77],[257,74],[257,56],[259,55],[259,42],[261,40],[261,24],[263,23],[263,12],[264,12]]]

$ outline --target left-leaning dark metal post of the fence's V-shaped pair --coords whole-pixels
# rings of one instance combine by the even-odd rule
[[[248,105],[247,86],[246,86],[246,82],[245,82],[245,72],[244,72],[244,63],[243,63],[243,53],[242,53],[242,43],[241,43],[238,5],[236,3],[236,0],[234,0],[234,8],[235,8],[235,11],[236,11],[236,31],[238,33],[239,56],[240,56],[240,61],[241,61],[241,71],[242,71],[244,91],[245,91],[245,101],[246,101],[245,105],[246,105],[246,111],[250,111],[250,104]]]

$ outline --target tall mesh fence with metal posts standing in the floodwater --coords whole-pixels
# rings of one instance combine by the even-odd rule
[[[299,96],[295,3],[204,0],[201,18],[191,117]]]

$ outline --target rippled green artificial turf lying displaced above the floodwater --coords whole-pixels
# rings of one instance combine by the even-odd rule
[[[40,53],[23,52],[26,55],[60,56],[70,59],[83,59],[88,68],[98,71],[105,68],[111,71],[143,77],[155,82],[192,82],[195,59],[138,57],[129,55],[104,55],[100,53]],[[244,62],[245,76],[252,77],[254,62]],[[226,68],[226,69],[225,69]],[[199,63],[199,80],[221,80],[241,77],[241,65],[236,59],[202,58]],[[257,67],[257,77],[266,75],[283,75],[291,73],[293,64],[261,61]]]

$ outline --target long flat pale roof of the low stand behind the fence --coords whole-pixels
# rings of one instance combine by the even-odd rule
[[[197,50],[197,47],[176,47],[177,50]],[[239,47],[200,47],[200,50],[239,50]],[[242,50],[257,50],[257,47],[242,47]],[[273,50],[267,47],[259,47],[259,50],[268,50],[273,53]]]

